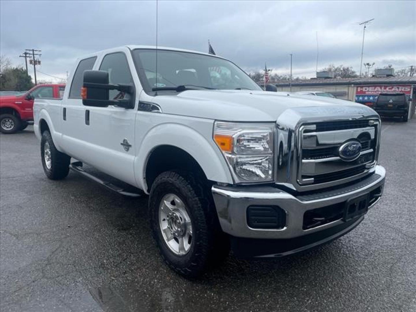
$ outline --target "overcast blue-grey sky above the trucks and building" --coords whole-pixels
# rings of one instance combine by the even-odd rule
[[[156,44],[156,1],[0,1],[0,53],[14,64],[25,49],[42,50],[39,71],[66,77],[74,60],[106,48]],[[294,76],[363,62],[396,69],[416,65],[415,1],[158,1],[158,45],[218,55],[248,72],[267,67]],[[33,76],[30,69],[30,74]],[[38,74],[40,79],[53,78]]]

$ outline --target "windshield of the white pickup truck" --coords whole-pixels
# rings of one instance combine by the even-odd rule
[[[132,54],[141,83],[148,94],[154,94],[154,88],[178,86],[190,86],[190,89],[261,90],[243,70],[218,57],[158,50],[156,74],[156,50],[136,49]]]

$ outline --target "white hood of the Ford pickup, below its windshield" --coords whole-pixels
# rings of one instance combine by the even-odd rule
[[[161,106],[166,114],[226,121],[276,121],[283,113],[300,118],[377,116],[362,104],[286,92],[188,90],[176,95],[159,95],[151,102]]]

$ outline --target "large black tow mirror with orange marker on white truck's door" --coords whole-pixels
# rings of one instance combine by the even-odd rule
[[[109,99],[109,91],[120,92],[121,99]],[[124,94],[130,94],[130,99],[123,99]],[[86,70],[81,89],[82,104],[85,106],[107,107],[116,105],[124,108],[134,108],[134,87],[129,84],[110,84],[109,74],[103,70]]]

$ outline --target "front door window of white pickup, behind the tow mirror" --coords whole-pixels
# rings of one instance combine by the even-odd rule
[[[100,70],[109,73],[110,84],[133,84],[133,78],[123,52],[107,54],[100,66]],[[117,90],[110,90],[109,99],[129,99],[130,95]]]

